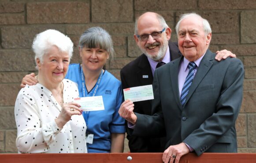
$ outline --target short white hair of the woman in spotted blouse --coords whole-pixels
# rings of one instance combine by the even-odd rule
[[[32,49],[35,53],[36,63],[37,58],[43,62],[44,55],[52,46],[57,46],[60,51],[68,53],[69,60],[71,59],[73,55],[71,39],[55,29],[48,29],[37,34],[33,40]]]

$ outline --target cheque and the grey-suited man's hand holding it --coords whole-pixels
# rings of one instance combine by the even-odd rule
[[[137,116],[133,111],[133,102],[154,99],[152,85],[124,89],[123,93],[125,101],[120,106],[119,114],[130,123],[136,124]]]

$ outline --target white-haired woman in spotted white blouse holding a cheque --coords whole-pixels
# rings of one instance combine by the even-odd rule
[[[33,41],[38,69],[36,85],[17,96],[15,121],[19,153],[86,153],[86,124],[78,88],[67,74],[73,43],[56,30],[39,33]]]

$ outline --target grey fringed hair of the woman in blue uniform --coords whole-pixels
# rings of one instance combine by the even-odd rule
[[[114,48],[111,39],[111,35],[100,27],[92,27],[86,29],[79,39],[78,46],[80,48],[100,48],[106,50],[110,58],[114,57]]]

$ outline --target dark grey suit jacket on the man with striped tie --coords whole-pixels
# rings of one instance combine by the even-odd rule
[[[242,95],[244,68],[239,59],[220,62],[207,50],[182,108],[178,70],[183,57],[158,68],[153,81],[153,116],[136,113],[133,135],[167,134],[166,148],[185,142],[197,155],[237,152],[235,120]]]

